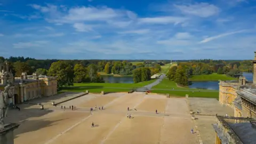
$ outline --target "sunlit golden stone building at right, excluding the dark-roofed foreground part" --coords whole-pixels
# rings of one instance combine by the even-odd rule
[[[256,52],[253,60],[253,82],[245,77],[238,81],[220,81],[219,102],[234,109],[235,117],[256,118]]]

